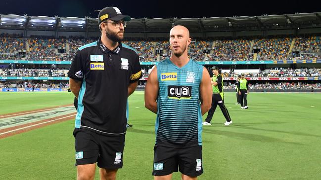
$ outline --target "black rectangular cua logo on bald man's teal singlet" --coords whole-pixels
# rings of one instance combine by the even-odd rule
[[[167,86],[167,94],[173,99],[190,99],[192,86]]]

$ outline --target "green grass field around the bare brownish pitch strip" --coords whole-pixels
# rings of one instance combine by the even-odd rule
[[[249,109],[225,93],[233,124],[218,107],[203,127],[199,180],[319,180],[321,177],[321,94],[250,93]],[[68,92],[0,93],[0,114],[73,103]],[[155,114],[142,92],[129,99],[124,167],[118,180],[152,180]],[[206,116],[206,114],[205,114]],[[205,119],[205,117],[203,117]],[[74,120],[0,140],[1,180],[75,180]],[[98,180],[98,173],[95,179]],[[173,180],[180,180],[174,173]]]

